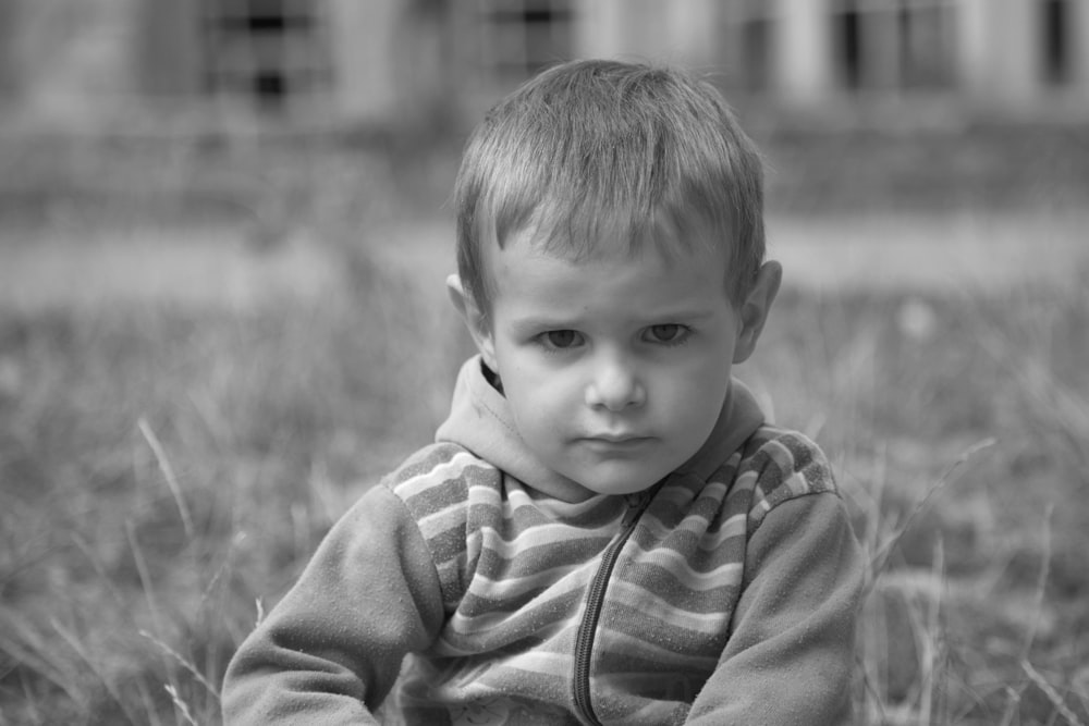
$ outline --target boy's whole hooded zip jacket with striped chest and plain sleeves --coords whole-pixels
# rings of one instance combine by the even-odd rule
[[[512,432],[470,361],[240,648],[229,724],[846,723],[864,568],[815,444],[735,384],[681,470],[571,502]]]

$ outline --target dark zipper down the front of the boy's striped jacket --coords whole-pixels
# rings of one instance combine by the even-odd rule
[[[661,482],[638,494],[628,496],[627,510],[624,513],[624,518],[621,519],[620,533],[601,554],[601,564],[598,565],[598,571],[590,580],[590,587],[586,593],[586,610],[583,612],[583,619],[578,624],[578,630],[575,635],[572,696],[578,715],[584,723],[590,724],[590,726],[601,726],[601,722],[598,721],[590,703],[590,655],[594,652],[594,638],[597,635],[601,608],[604,605],[605,589],[609,587],[609,580],[621,550],[632,537],[635,526],[639,522],[639,517],[647,510],[650,500],[653,499],[660,487]]]

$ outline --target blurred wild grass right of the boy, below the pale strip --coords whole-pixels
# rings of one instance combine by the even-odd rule
[[[860,723],[1087,723],[1089,296],[787,306],[755,368],[857,507]]]

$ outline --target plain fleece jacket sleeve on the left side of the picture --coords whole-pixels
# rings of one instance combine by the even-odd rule
[[[371,711],[402,659],[430,643],[442,618],[423,536],[401,500],[375,487],[231,660],[224,724],[378,723]]]

